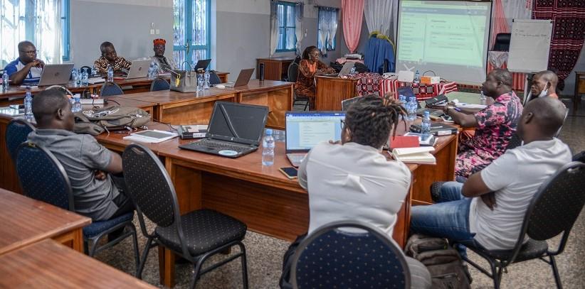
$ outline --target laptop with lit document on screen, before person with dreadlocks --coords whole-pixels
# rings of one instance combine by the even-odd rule
[[[287,111],[286,157],[298,167],[307,153],[322,141],[339,141],[344,111]]]

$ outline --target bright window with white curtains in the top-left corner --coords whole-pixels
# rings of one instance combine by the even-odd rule
[[[69,60],[70,0],[0,0],[0,67],[19,57],[31,41],[47,63]]]

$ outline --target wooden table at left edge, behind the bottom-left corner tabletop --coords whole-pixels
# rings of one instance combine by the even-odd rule
[[[90,218],[3,189],[0,200],[0,256],[43,239],[83,253],[82,229]]]

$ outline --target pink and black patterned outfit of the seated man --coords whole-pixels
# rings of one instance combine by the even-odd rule
[[[475,113],[478,126],[473,137],[459,143],[455,175],[467,178],[501,156],[516,132],[521,114],[522,103],[513,91]]]

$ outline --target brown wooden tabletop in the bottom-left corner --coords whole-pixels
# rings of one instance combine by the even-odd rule
[[[0,288],[156,288],[52,240],[0,255]]]

